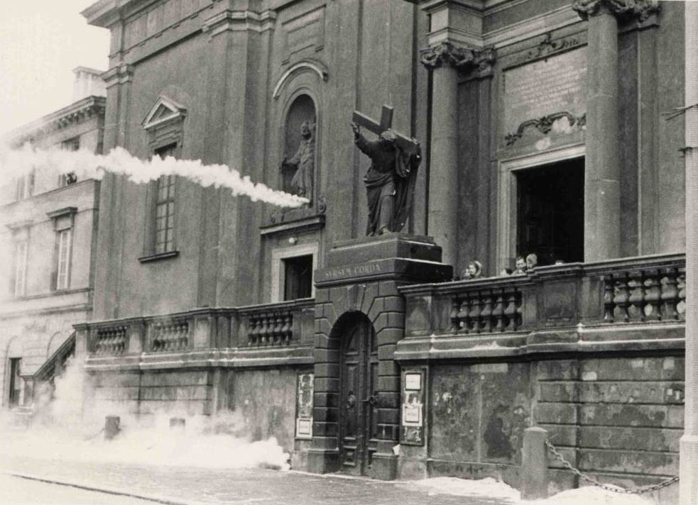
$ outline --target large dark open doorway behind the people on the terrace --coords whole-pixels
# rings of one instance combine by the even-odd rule
[[[584,261],[584,158],[520,170],[516,182],[517,255]]]

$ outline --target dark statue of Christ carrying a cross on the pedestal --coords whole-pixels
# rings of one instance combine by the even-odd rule
[[[410,216],[415,196],[417,169],[422,160],[420,144],[415,138],[391,130],[393,108],[383,106],[381,123],[354,111],[354,143],[371,158],[364,176],[369,203],[366,235],[383,235],[400,231]],[[359,126],[376,133],[378,140],[366,140]]]

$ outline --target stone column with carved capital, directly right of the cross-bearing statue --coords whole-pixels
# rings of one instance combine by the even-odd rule
[[[432,71],[432,128],[429,160],[428,233],[443,249],[443,262],[454,265],[458,247],[458,82],[459,72],[489,68],[494,51],[441,42],[422,50]]]

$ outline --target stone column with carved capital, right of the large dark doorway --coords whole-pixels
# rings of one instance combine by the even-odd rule
[[[584,171],[584,260],[621,255],[618,165],[618,20],[647,18],[648,0],[576,0],[572,9],[589,20],[587,47],[587,159]]]

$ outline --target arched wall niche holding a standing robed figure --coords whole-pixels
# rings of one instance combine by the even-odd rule
[[[281,189],[315,201],[317,174],[317,107],[299,91],[289,101],[283,122]]]

